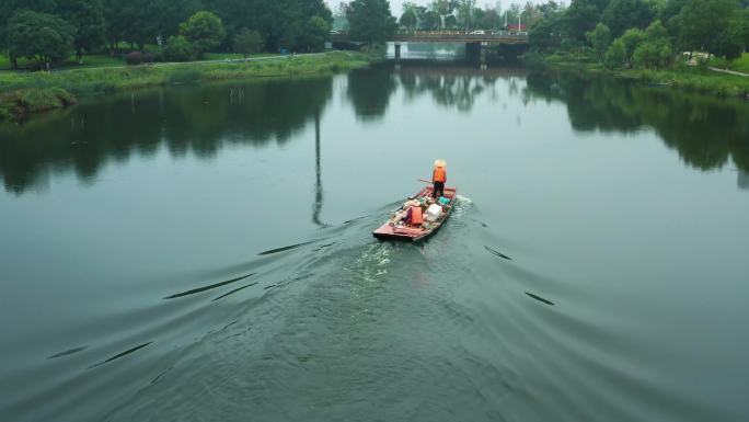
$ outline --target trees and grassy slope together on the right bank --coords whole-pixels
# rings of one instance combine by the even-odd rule
[[[749,0],[549,0],[526,61],[723,98],[749,94]],[[729,70],[735,73],[726,72]]]

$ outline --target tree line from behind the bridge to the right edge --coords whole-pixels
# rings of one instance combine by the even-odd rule
[[[502,10],[476,0],[405,2],[406,30],[507,30],[523,24],[532,50],[585,53],[611,68],[659,68],[680,52],[733,59],[749,46],[749,0],[550,0]]]

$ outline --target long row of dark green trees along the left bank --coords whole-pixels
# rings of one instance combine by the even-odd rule
[[[322,49],[332,12],[323,0],[0,0],[0,48],[15,64],[59,62],[74,52],[125,43],[172,46],[180,58],[207,49]],[[185,57],[186,56],[186,57]]]

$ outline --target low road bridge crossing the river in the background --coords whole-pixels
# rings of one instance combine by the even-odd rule
[[[361,45],[361,41],[353,38],[345,32],[333,32],[331,42],[338,45]],[[465,44],[469,55],[484,58],[485,49],[492,46],[512,46],[516,50],[528,47],[527,32],[507,31],[397,31],[390,42],[395,44],[395,58],[401,58],[403,43],[460,43]]]

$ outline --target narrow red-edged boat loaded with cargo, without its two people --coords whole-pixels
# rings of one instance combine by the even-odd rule
[[[408,201],[431,198],[431,186],[424,187],[416,195],[410,197]],[[393,213],[388,221],[385,221],[377,230],[372,231],[372,236],[380,240],[410,240],[414,242],[428,238],[435,231],[437,231],[437,229],[442,227],[445,220],[447,220],[447,218],[450,216],[452,207],[456,203],[456,198],[458,197],[458,189],[445,187],[445,194],[442,196],[450,199],[450,202],[447,205],[441,205],[442,212],[439,213],[439,216],[434,221],[425,218],[424,224],[420,226],[405,225],[399,218],[399,216],[405,212],[404,207],[401,207]]]

